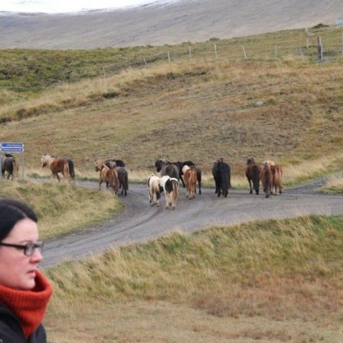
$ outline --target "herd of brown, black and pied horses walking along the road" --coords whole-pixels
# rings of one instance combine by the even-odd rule
[[[41,156],[41,166],[49,166],[51,169],[52,179],[60,182],[59,174],[62,174],[66,181],[75,178],[74,162],[71,159],[57,157],[54,154],[44,154]],[[175,209],[177,198],[179,197],[179,182],[186,189],[186,197],[194,199],[197,193],[197,184],[199,194],[202,194],[202,169],[197,167],[193,161],[176,161],[168,159],[157,159],[155,161],[157,176],[151,174],[146,180],[146,187],[149,195],[151,206],[159,207],[161,193],[164,193],[166,199],[166,208]],[[1,154],[1,174],[7,179],[12,180],[18,174],[18,163],[14,156],[10,154]],[[129,189],[129,177],[124,161],[121,159],[107,159],[106,161],[97,160],[95,162],[95,171],[99,172],[99,190],[101,184],[105,182],[106,189],[111,189],[114,194],[127,195]],[[277,192],[282,194],[284,186],[282,184],[282,167],[274,161],[264,161],[262,165],[257,164],[253,158],[247,159],[247,168],[245,171],[249,182],[250,194],[253,190],[259,194],[259,184],[262,183],[263,191],[266,198]],[[224,158],[214,161],[212,175],[215,183],[215,193],[218,197],[221,195],[227,197],[231,185],[231,167]]]

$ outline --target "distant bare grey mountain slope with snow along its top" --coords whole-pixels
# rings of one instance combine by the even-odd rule
[[[0,14],[0,49],[95,49],[331,25],[343,16],[343,5],[341,0],[184,0],[75,14]]]

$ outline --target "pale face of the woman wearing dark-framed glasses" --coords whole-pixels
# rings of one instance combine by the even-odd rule
[[[24,218],[17,222],[2,242],[10,244],[27,244],[38,242],[37,224]],[[0,247],[0,284],[13,289],[34,288],[37,264],[43,257],[38,249],[26,256],[24,249]]]

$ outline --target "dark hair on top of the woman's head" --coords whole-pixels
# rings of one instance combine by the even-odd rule
[[[34,210],[15,199],[0,199],[0,242],[11,232],[19,220],[29,218],[38,221]]]

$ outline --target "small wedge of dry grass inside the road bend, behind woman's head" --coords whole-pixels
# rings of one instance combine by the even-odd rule
[[[34,208],[43,241],[78,232],[81,227],[116,216],[118,197],[97,189],[55,182],[1,182],[0,197],[13,197]]]

